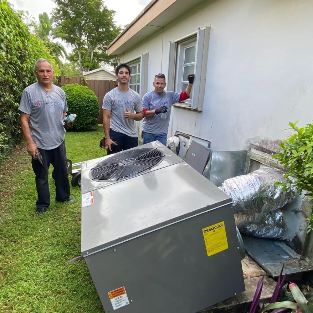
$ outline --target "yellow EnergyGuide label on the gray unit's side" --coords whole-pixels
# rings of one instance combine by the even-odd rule
[[[202,229],[208,256],[228,249],[224,221]]]

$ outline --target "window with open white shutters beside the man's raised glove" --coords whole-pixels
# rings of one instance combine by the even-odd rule
[[[182,92],[188,85],[188,74],[195,74],[190,98],[181,106],[202,111],[207,74],[210,27],[198,29],[187,38],[170,42],[168,90]]]

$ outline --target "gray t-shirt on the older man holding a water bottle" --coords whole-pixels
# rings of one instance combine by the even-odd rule
[[[47,92],[38,82],[26,87],[18,110],[30,115],[30,134],[38,148],[51,150],[64,141],[62,119],[68,108],[61,88],[52,85],[52,90]]]

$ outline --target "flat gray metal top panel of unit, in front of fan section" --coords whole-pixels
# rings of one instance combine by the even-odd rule
[[[94,204],[82,208],[83,255],[231,203],[186,162],[94,190],[93,197]]]

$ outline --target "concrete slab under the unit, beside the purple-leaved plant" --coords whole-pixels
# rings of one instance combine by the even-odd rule
[[[249,312],[251,301],[256,286],[261,276],[264,276],[264,283],[260,303],[267,303],[275,289],[276,281],[266,276],[265,271],[256,264],[248,255],[241,261],[244,273],[244,285],[246,291],[232,298],[224,300],[198,313],[245,313]]]

